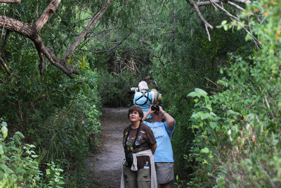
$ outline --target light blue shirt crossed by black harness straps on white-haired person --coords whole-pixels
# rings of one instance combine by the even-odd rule
[[[146,92],[145,96],[143,96],[142,92],[143,93]],[[140,99],[138,99],[138,98],[140,98]],[[138,99],[138,100],[136,101],[136,99]],[[150,100],[148,100],[148,99],[150,99]],[[146,103],[145,103],[145,101],[146,101]],[[146,90],[141,90],[141,92],[136,92],[135,96],[133,97],[133,104],[141,106],[141,108],[143,109],[143,114],[145,114],[149,110],[150,104],[152,104],[152,102],[153,102],[152,101],[152,94],[150,92],[146,91]],[[148,115],[148,118],[150,118],[150,117],[151,117],[151,115]]]

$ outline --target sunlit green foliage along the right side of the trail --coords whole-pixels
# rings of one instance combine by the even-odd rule
[[[190,187],[280,187],[280,7],[278,1],[255,1],[244,15],[259,11],[263,23],[251,19],[261,50],[249,58],[233,56],[228,78],[218,80],[222,92],[192,97],[193,147],[196,163]],[[226,24],[226,23],[223,23]]]

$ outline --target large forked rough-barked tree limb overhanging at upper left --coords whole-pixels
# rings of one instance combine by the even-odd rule
[[[48,6],[45,8],[44,12],[41,14],[39,19],[35,24],[28,24],[23,23],[20,20],[15,20],[13,18],[8,18],[4,15],[0,15],[0,27],[2,27],[4,30],[7,30],[6,39],[8,39],[8,32],[17,32],[18,34],[27,37],[34,42],[34,45],[38,51],[40,63],[39,63],[39,70],[40,73],[43,73],[43,67],[44,67],[44,56],[48,58],[48,61],[50,61],[51,64],[55,65],[55,67],[59,68],[63,71],[67,76],[70,78],[73,78],[72,74],[79,74],[79,70],[76,68],[68,67],[66,65],[67,58],[70,57],[74,49],[77,48],[81,40],[87,35],[89,30],[96,25],[98,20],[103,16],[103,13],[105,13],[107,7],[110,5],[112,0],[107,0],[103,8],[98,11],[98,13],[91,19],[91,22],[87,27],[81,32],[79,37],[76,39],[74,44],[70,46],[70,48],[67,50],[63,58],[60,60],[58,59],[55,54],[51,50],[48,49],[48,47],[44,46],[44,42],[42,41],[41,37],[39,36],[39,32],[42,27],[46,24],[49,18],[55,13],[55,10],[58,8],[58,5],[60,4],[61,0],[51,0]],[[15,3],[20,2],[20,0],[0,0],[1,3]],[[4,41],[4,44],[2,45],[2,49],[4,49],[4,46],[6,45],[6,39]],[[8,71],[8,67],[5,66],[6,63],[4,61],[1,61],[1,64],[4,65],[4,68],[6,69],[7,73],[11,73],[11,71]]]

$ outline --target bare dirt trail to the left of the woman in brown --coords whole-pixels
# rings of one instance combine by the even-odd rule
[[[95,187],[119,187],[124,149],[122,137],[124,127],[130,124],[128,108],[103,108],[99,138],[102,149],[87,159],[89,170],[98,185]]]

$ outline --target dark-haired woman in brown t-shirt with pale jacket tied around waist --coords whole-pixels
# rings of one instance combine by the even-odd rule
[[[121,187],[127,183],[130,188],[157,188],[153,158],[157,143],[154,134],[148,125],[142,123],[143,111],[140,106],[131,106],[128,118],[131,125],[124,129],[126,162]]]

